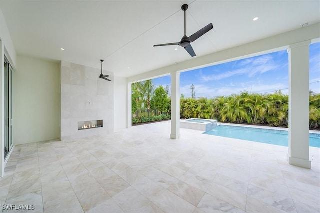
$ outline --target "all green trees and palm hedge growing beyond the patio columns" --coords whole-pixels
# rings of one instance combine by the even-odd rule
[[[320,94],[310,91],[310,129],[320,129]],[[288,95],[249,94],[247,91],[215,98],[180,97],[180,118],[217,119],[219,122],[288,127]],[[132,84],[132,124],[170,119],[169,88],[154,89],[151,80]]]

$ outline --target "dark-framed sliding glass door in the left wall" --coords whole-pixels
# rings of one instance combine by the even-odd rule
[[[4,57],[4,158],[12,148],[12,67]]]

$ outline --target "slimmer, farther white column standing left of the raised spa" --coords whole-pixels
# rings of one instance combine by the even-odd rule
[[[171,135],[180,138],[180,73],[171,73]]]

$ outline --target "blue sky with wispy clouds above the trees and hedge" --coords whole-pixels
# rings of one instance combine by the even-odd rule
[[[320,93],[320,43],[310,45],[310,90]],[[170,76],[152,79],[155,86],[171,85]],[[316,82],[316,83],[312,83]],[[195,87],[196,97],[228,96],[249,93],[274,93],[281,89],[288,93],[288,53],[286,50],[218,64],[180,75],[180,93],[191,96],[190,86]]]

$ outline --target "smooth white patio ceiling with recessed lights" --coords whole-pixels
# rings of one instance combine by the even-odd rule
[[[129,77],[191,59],[180,46],[153,47],[181,40],[185,3],[188,36],[213,24],[192,43],[196,57],[320,22],[319,0],[0,0],[0,8],[18,54],[96,68],[104,59],[103,69]]]

